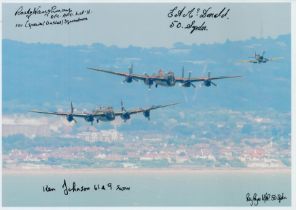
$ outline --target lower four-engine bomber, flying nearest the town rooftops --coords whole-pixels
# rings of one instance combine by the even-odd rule
[[[71,110],[70,112],[45,112],[45,111],[38,111],[38,110],[32,110],[30,112],[34,113],[40,113],[40,114],[50,114],[50,115],[58,115],[66,117],[68,122],[74,121],[76,117],[84,118],[85,121],[90,122],[91,125],[93,125],[93,122],[96,120],[97,123],[99,121],[113,121],[117,116],[120,116],[124,122],[126,122],[128,119],[130,119],[131,115],[143,113],[144,117],[146,117],[148,120],[150,120],[150,111],[154,109],[160,109],[168,106],[173,106],[178,103],[172,103],[172,104],[166,104],[166,105],[158,105],[158,106],[151,106],[149,108],[143,109],[143,108],[136,108],[131,110],[126,110],[123,106],[123,103],[121,101],[121,111],[114,111],[112,107],[99,107],[95,109],[92,112],[81,112],[81,113],[75,113],[74,107],[71,102]]]

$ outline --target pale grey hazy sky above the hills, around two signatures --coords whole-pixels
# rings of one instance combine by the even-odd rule
[[[87,21],[70,25],[17,28],[24,24],[24,15],[15,15],[23,5],[23,11],[41,5],[48,9],[53,4],[3,4],[3,38],[24,42],[58,43],[63,45],[82,45],[103,43],[105,45],[128,45],[143,47],[171,47],[176,42],[213,43],[225,40],[244,40],[251,37],[276,37],[291,33],[291,14],[289,3],[191,3],[191,4],[56,4],[58,8],[71,8],[73,11],[91,9]],[[170,9],[212,7],[211,11],[230,9],[228,19],[168,18]],[[226,10],[225,10],[226,11]],[[81,16],[83,17],[83,16]],[[31,16],[31,22],[48,20],[44,15]],[[170,23],[180,20],[184,25],[196,20],[198,25],[206,21],[208,31],[190,34],[185,29],[171,29]]]

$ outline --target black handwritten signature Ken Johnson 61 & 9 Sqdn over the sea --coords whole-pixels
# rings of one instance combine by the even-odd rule
[[[58,188],[45,185],[42,187],[43,192],[54,192]],[[82,193],[87,191],[130,191],[130,186],[123,186],[120,184],[106,183],[106,184],[93,184],[91,186],[78,185],[75,181],[68,183],[65,179],[61,185],[60,190],[64,195],[70,195],[72,193]]]

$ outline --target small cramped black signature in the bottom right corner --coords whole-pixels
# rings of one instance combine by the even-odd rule
[[[254,193],[251,195],[250,193],[246,194],[246,201],[250,203],[250,206],[258,206],[260,202],[268,202],[268,201],[278,201],[281,203],[282,200],[286,200],[287,197],[284,195],[284,193],[281,194],[272,194],[272,193],[264,193],[261,195],[258,195],[257,193]]]

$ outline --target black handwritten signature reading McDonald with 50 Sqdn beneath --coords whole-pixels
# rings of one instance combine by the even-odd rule
[[[214,10],[212,7],[202,9],[175,6],[167,16],[170,19],[170,28],[189,30],[192,34],[195,31],[208,31],[208,20],[229,19],[229,13],[230,9],[226,7]]]

